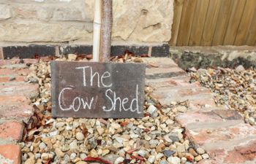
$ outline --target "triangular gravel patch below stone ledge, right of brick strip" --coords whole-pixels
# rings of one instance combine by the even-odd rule
[[[256,122],[256,70],[244,69],[189,69],[191,81],[198,80],[214,93],[215,102],[226,109],[237,110],[245,122]]]

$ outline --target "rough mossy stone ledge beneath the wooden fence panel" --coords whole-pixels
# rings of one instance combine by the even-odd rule
[[[239,65],[256,68],[256,48],[249,46],[170,47],[170,55],[182,69]]]

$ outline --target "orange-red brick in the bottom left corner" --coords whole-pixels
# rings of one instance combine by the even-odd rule
[[[20,146],[18,145],[0,145],[0,155],[5,157],[7,160],[12,160],[13,164],[20,164]]]

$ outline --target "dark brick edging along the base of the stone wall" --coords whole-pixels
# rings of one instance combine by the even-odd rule
[[[135,55],[148,55],[153,57],[167,57],[169,53],[169,45],[113,45],[111,47],[111,55],[124,55],[124,52],[129,52]],[[69,53],[92,54],[92,45],[49,45],[49,44],[29,44],[27,46],[7,46],[0,47],[0,59],[13,58],[34,58],[35,55],[67,55]]]

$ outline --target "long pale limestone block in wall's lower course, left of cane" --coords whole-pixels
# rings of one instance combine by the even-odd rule
[[[69,42],[92,40],[91,23],[0,23],[4,42]]]

